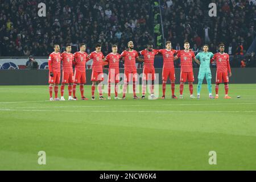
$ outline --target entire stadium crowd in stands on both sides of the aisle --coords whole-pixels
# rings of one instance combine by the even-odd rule
[[[88,52],[102,44],[104,55],[111,44],[119,52],[133,40],[141,50],[147,42],[156,44],[153,0],[45,1],[46,17],[38,16],[41,0],[10,0],[0,5],[0,56],[48,56],[54,43],[85,42]],[[210,1],[162,0],[163,30],[174,49],[191,42],[195,53],[204,43],[217,51],[226,44],[229,55],[243,54],[255,38],[255,6],[246,0],[213,0],[217,17],[208,16]],[[242,28],[241,28],[242,27]],[[159,30],[158,30],[159,31]],[[155,32],[156,33],[156,32]],[[158,32],[159,33],[159,32]],[[156,45],[156,48],[163,48]]]

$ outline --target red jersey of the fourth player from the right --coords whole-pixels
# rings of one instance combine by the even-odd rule
[[[159,53],[163,55],[163,69],[174,69],[174,55],[177,54],[177,51],[174,49],[171,49],[170,51],[168,51],[167,49],[160,49]]]

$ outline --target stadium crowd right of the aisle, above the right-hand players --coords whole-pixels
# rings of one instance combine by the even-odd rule
[[[209,3],[216,3],[217,16],[209,17]],[[215,53],[224,42],[229,55],[243,55],[255,38],[255,2],[247,0],[162,0],[163,27],[167,40],[181,47],[191,42],[194,52],[209,44]]]

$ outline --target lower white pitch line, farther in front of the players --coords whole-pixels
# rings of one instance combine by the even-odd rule
[[[256,113],[255,110],[250,111],[140,111],[140,110],[18,110],[18,109],[0,109],[0,111],[28,111],[28,112],[61,112],[61,113]]]

